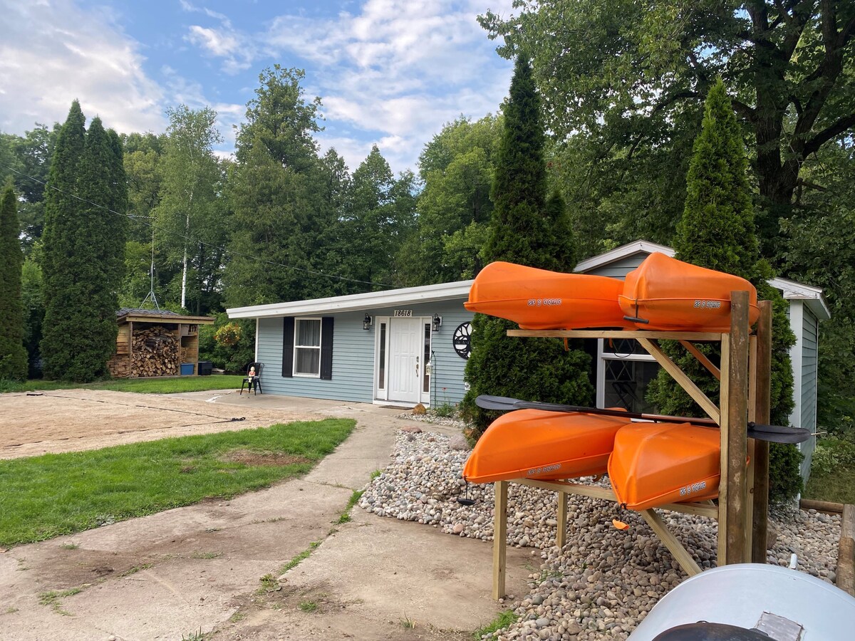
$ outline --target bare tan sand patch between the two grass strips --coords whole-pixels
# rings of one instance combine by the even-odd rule
[[[210,392],[217,397],[227,392]],[[318,415],[125,391],[0,394],[0,459],[270,426]]]

